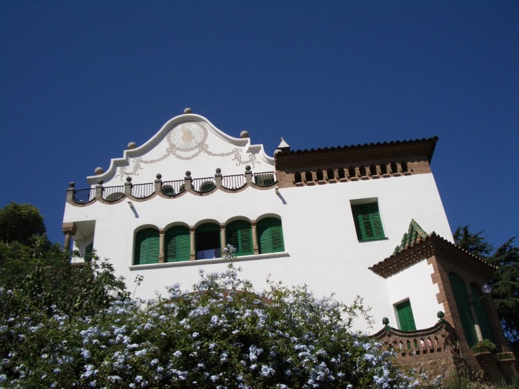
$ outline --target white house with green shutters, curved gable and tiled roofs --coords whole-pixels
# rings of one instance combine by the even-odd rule
[[[491,298],[471,304],[470,320],[457,310],[456,287],[472,299],[493,269],[452,244],[430,171],[436,142],[290,151],[282,140],[271,157],[246,131],[231,137],[186,109],[96,169],[89,189],[71,184],[66,246],[93,247],[128,284],[144,276],[137,293],[151,298],[190,287],[199,269],[224,270],[221,249],[232,243],[258,289],[270,274],[345,303],[362,296],[377,323],[401,330],[430,328],[443,311],[457,331],[473,329],[469,344],[484,332],[504,344]],[[492,310],[486,319],[480,307]]]

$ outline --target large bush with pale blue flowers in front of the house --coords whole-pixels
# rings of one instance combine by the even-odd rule
[[[230,255],[232,250],[229,248]],[[380,345],[350,331],[370,322],[361,298],[344,305],[307,287],[201,273],[192,290],[111,301],[90,316],[20,310],[0,289],[0,386],[407,388],[415,380]],[[17,310],[6,308],[19,304]],[[15,314],[16,313],[16,314]]]

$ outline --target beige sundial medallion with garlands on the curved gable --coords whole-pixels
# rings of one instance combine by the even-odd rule
[[[236,162],[236,166],[242,164],[251,164],[254,167],[255,164],[261,162],[256,160],[254,153],[248,154],[247,160],[242,160],[242,149],[235,148],[228,153],[213,153],[209,150],[209,145],[206,143],[208,138],[208,126],[203,122],[185,122],[174,126],[169,133],[167,133],[166,141],[169,147],[165,149],[164,155],[155,160],[143,160],[143,158],[134,158],[131,162],[134,163],[133,171],[127,171],[127,167],[120,167],[119,174],[116,177],[120,177],[122,181],[125,175],[138,175],[138,171],[142,170],[142,164],[154,164],[165,160],[165,158],[173,155],[179,160],[192,160],[201,153],[205,153],[212,157],[227,157],[234,155],[233,161]],[[192,153],[194,151],[194,153]]]

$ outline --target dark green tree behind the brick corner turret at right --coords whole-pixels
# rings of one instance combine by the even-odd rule
[[[480,256],[488,263],[498,266],[490,280],[492,297],[501,319],[504,334],[519,349],[519,247],[515,238],[493,251],[483,231],[473,233],[469,226],[458,227],[454,233],[456,244],[468,252]],[[491,252],[493,254],[489,255]]]

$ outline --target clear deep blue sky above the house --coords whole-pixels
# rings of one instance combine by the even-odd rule
[[[0,207],[55,242],[68,183],[187,106],[269,155],[438,135],[451,228],[519,235],[518,1],[3,0],[0,56]]]

